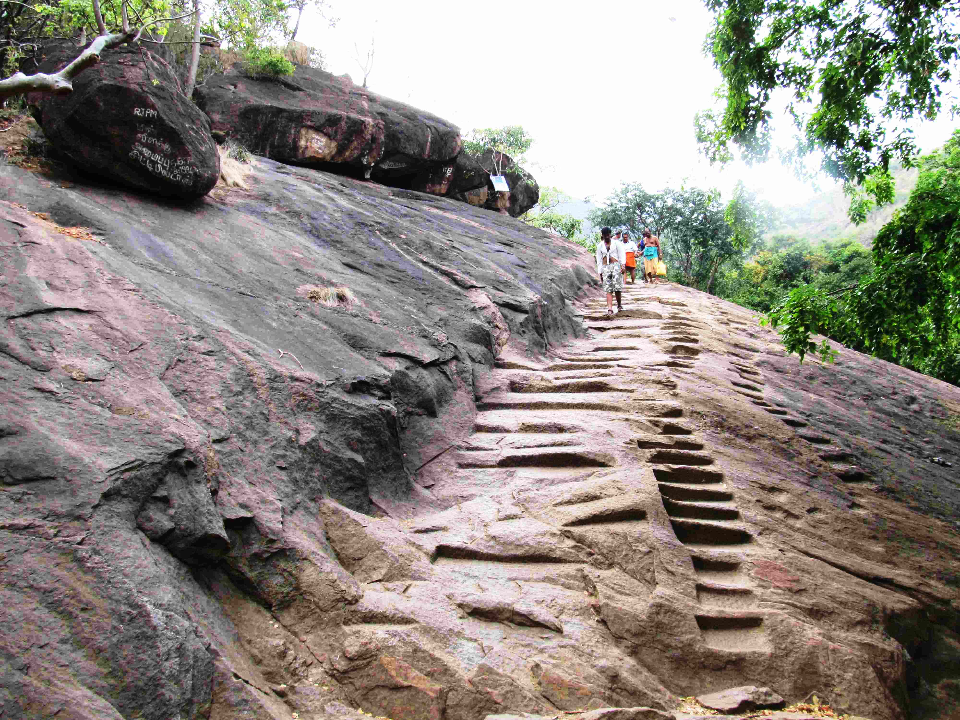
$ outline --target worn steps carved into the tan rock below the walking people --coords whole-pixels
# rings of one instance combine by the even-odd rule
[[[712,468],[709,448],[684,421],[677,381],[669,374],[695,367],[704,324],[684,312],[683,301],[655,295],[657,287],[628,286],[625,309],[613,317],[606,316],[602,298],[589,300],[584,319],[590,338],[549,362],[498,361],[495,390],[477,403],[475,432],[456,448],[456,466],[471,473],[517,468],[550,483],[572,483],[607,468],[625,470],[636,484],[651,478],[677,540],[690,555],[695,620],[705,645],[728,652],[769,651],[765,613],[741,567],[754,535],[724,473]],[[661,352],[651,356],[641,339],[653,341]],[[784,421],[805,424],[763,399],[759,372],[746,360],[737,359],[731,367],[738,393]],[[635,469],[622,468],[615,454],[594,449],[600,427],[617,416],[638,430],[629,440],[643,458]],[[648,519],[629,487],[620,495],[551,508],[546,515],[561,527],[611,524],[620,532]]]

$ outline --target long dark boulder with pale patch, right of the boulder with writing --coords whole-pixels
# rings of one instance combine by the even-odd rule
[[[238,63],[196,98],[214,132],[254,153],[435,195],[446,194],[462,146],[442,118],[310,67],[269,80]]]

